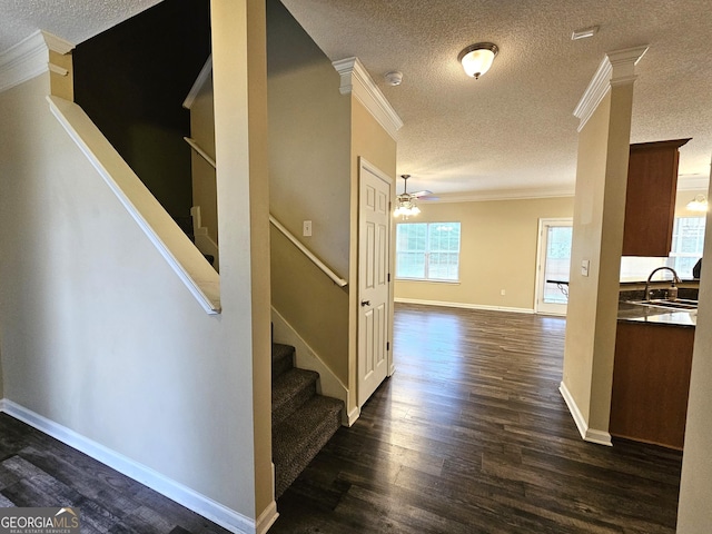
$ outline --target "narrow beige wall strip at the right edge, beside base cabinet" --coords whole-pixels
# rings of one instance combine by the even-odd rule
[[[712,228],[712,214],[710,212],[708,212],[706,227]],[[704,241],[704,249],[710,256],[712,231],[705,234]],[[712,495],[712,462],[710,462],[712,422],[710,421],[710,406],[712,406],[712,261],[703,261],[680,483],[676,531],[679,534],[708,532],[712,524],[712,507],[710,506],[710,495]]]

